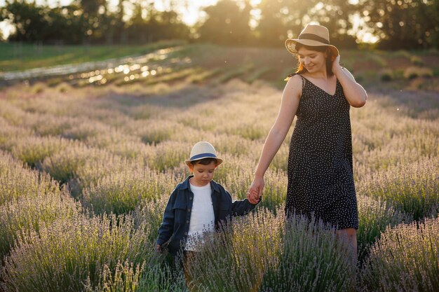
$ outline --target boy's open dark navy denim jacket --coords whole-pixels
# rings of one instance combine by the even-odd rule
[[[169,252],[175,256],[182,246],[182,242],[187,238],[189,232],[189,222],[191,220],[192,202],[194,193],[189,187],[188,176],[182,183],[179,183],[170,195],[166,205],[163,221],[158,229],[157,244],[163,246],[167,244]],[[215,214],[215,227],[218,228],[219,222],[228,216],[242,216],[255,209],[256,205],[245,200],[231,201],[231,195],[227,190],[215,181],[210,181],[212,189],[212,205]],[[165,247],[165,246],[163,246]]]

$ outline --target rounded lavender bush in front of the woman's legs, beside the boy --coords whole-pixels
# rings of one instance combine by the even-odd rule
[[[186,260],[187,283],[197,291],[351,291],[350,252],[322,223],[258,211],[205,239]]]

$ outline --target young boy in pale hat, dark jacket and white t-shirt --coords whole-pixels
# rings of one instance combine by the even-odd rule
[[[212,180],[222,163],[212,144],[198,142],[184,162],[193,174],[170,195],[156,242],[157,251],[167,246],[173,256],[179,251],[196,251],[194,242],[205,232],[213,232],[228,216],[247,214],[256,206],[247,199],[232,202],[229,192]]]

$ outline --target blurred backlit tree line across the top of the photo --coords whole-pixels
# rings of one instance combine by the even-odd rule
[[[379,48],[439,48],[439,0],[359,0],[356,4],[262,0],[253,6],[250,0],[219,0],[203,8],[205,18],[193,27],[182,21],[177,1],[167,2],[168,9],[158,11],[151,0],[119,0],[116,9],[109,9],[109,0],[74,0],[55,8],[31,0],[6,0],[0,21],[8,20],[15,27],[8,41],[23,42],[114,44],[187,39],[280,46],[287,37],[297,37],[306,23],[318,22],[330,30],[331,42],[344,48],[361,42],[351,34],[352,29],[367,29],[378,36]],[[130,17],[127,3],[132,5]]]

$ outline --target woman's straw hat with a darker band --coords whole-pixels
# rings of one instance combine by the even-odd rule
[[[310,47],[328,46],[332,51],[332,56],[337,57],[339,55],[339,50],[335,46],[330,45],[329,31],[323,25],[306,25],[299,34],[298,39],[287,39],[285,47],[288,52],[297,54],[296,43]]]

